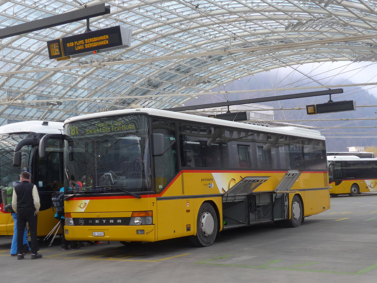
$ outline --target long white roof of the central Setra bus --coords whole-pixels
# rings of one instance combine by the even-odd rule
[[[212,124],[215,126],[244,128],[251,131],[254,130],[254,131],[274,133],[274,134],[293,135],[293,136],[298,136],[298,137],[313,138],[317,140],[325,140],[325,137],[323,137],[319,131],[311,130],[311,129],[303,129],[303,128],[297,128],[297,127],[279,127],[279,128],[264,127],[264,126],[251,125],[247,123],[232,122],[232,121],[221,120],[221,119],[216,119],[216,118],[208,118],[208,117],[202,117],[202,116],[193,115],[193,114],[185,114],[185,113],[154,109],[154,108],[113,110],[113,111],[79,115],[76,117],[67,118],[67,120],[64,121],[64,124],[75,122],[78,120],[90,119],[90,118],[100,118],[100,117],[107,117],[107,116],[112,116],[112,115],[131,114],[131,113],[137,113],[137,114],[144,113],[144,114],[149,114],[149,115],[153,115],[153,116],[157,116],[161,118],[173,118],[176,120],[186,120],[186,121],[190,121],[194,123],[195,122],[207,123],[207,124]]]

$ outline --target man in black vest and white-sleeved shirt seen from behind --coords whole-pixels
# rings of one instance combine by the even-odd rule
[[[26,222],[29,223],[31,238],[31,259],[41,258],[38,254],[39,246],[37,240],[37,217],[40,208],[37,187],[30,183],[30,173],[22,172],[20,182],[14,187],[12,197],[12,208],[17,213],[17,259],[23,259],[23,233]]]

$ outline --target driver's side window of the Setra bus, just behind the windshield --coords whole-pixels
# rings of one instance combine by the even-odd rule
[[[152,133],[164,135],[164,154],[155,156],[155,187],[161,192],[170,180],[178,173],[177,143],[175,123],[172,121],[153,119]]]

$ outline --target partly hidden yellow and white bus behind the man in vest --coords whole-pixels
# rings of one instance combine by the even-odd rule
[[[44,237],[57,224],[51,194],[63,186],[63,143],[49,140],[44,158],[38,157],[40,138],[45,134],[63,134],[62,122],[25,121],[0,126],[0,189],[20,180],[21,172],[32,174],[38,188],[41,208],[37,235]],[[0,195],[0,203],[3,200]],[[0,212],[0,235],[13,235],[13,218]]]

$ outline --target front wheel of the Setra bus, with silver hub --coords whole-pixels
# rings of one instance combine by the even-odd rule
[[[196,220],[196,235],[191,237],[192,243],[197,247],[212,245],[216,238],[217,225],[215,209],[209,203],[203,203]]]

